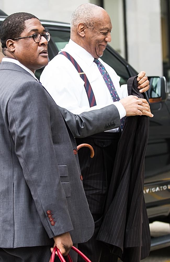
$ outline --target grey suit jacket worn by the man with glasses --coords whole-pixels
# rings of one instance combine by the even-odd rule
[[[120,125],[114,105],[80,116],[60,110],[77,137]],[[0,247],[50,245],[67,231],[79,243],[93,234],[76,142],[60,110],[28,72],[1,63]]]

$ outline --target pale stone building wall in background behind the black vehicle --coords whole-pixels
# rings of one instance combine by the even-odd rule
[[[8,15],[29,12],[40,19],[69,22],[73,10],[84,2],[100,0],[0,0],[0,9]],[[110,45],[125,57],[123,0],[103,0],[112,22]],[[128,62],[147,75],[162,75],[160,0],[126,0]]]

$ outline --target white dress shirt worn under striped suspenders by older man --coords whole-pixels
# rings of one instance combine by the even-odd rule
[[[97,64],[93,62],[94,57],[71,39],[62,51],[69,53],[86,74],[97,105],[93,107],[89,106],[88,97],[84,88],[84,81],[78,74],[74,65],[63,55],[55,56],[45,67],[40,77],[42,85],[53,97],[56,104],[66,108],[74,114],[80,114],[85,111],[114,104],[118,109],[120,118],[124,117],[126,111],[120,102],[113,102],[110,91],[107,88]],[[120,88],[120,77],[116,74],[115,70],[100,58],[99,61],[104,65],[106,71],[110,75],[120,99],[126,97],[128,95],[127,85],[122,85]],[[118,129],[109,131],[116,132]]]

